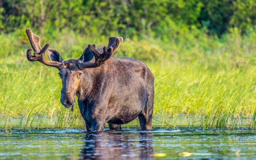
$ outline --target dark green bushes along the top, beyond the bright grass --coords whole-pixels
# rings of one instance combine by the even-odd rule
[[[221,36],[233,27],[254,29],[255,11],[254,0],[4,0],[0,31],[32,27],[44,35],[68,28],[96,37],[170,39],[197,28]]]

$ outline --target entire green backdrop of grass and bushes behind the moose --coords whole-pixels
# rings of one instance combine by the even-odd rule
[[[255,128],[254,12],[250,0],[0,2],[0,126],[84,128],[77,102],[71,112],[59,101],[58,71],[27,61],[33,28],[66,60],[122,36],[114,56],[155,76],[153,126]]]

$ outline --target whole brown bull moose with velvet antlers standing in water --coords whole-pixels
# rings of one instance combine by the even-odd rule
[[[60,101],[73,108],[74,96],[78,97],[87,131],[102,131],[106,122],[111,130],[119,130],[121,124],[137,116],[142,130],[152,129],[154,76],[137,59],[112,56],[122,37],[110,37],[108,47],[96,49],[89,44],[79,59],[65,61],[48,43],[41,48],[40,37],[29,28],[26,33],[34,50],[33,55],[31,48],[27,50],[27,59],[59,70]],[[49,60],[45,59],[45,52]]]

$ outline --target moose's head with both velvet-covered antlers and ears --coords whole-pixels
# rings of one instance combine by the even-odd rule
[[[84,49],[82,56],[79,59],[63,60],[55,49],[49,48],[47,43],[43,48],[40,46],[40,37],[35,35],[31,29],[26,29],[28,39],[34,50],[27,50],[27,59],[29,61],[39,61],[46,66],[55,67],[59,70],[59,76],[62,81],[60,101],[62,105],[69,108],[74,104],[74,95],[80,94],[79,89],[82,85],[86,86],[84,79],[90,75],[86,72],[87,68],[98,68],[108,60],[122,43],[122,37],[110,37],[108,47],[95,49],[95,45],[89,44]],[[45,59],[45,52],[49,61]],[[94,62],[93,62],[94,61]],[[91,72],[93,73],[93,72]],[[73,108],[73,107],[72,107]]]

